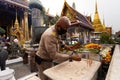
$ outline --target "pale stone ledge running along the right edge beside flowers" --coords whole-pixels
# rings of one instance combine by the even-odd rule
[[[120,80],[120,45],[116,45],[105,80]]]

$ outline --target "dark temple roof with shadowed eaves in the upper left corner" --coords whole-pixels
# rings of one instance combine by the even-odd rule
[[[24,11],[28,11],[28,1],[25,0],[0,0],[0,26],[10,27],[15,20],[15,13],[18,19],[23,17]]]

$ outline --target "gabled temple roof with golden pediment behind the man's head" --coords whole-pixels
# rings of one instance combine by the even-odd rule
[[[71,22],[75,20],[79,20],[81,22],[79,25],[81,25],[84,28],[94,30],[92,24],[87,20],[87,18],[78,11],[76,11],[74,8],[70,7],[66,1],[64,2],[61,16],[69,17]]]

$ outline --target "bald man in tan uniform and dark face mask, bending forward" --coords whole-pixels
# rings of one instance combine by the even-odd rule
[[[74,24],[74,23],[73,23]],[[67,55],[59,53],[58,43],[59,36],[65,34],[67,29],[71,26],[69,18],[66,16],[60,17],[55,25],[48,28],[41,36],[38,51],[36,52],[35,61],[37,63],[39,77],[41,80],[50,80],[43,74],[43,71],[52,67],[52,62],[61,63],[72,58],[80,61],[81,57],[78,55]],[[70,49],[70,47],[68,47]]]

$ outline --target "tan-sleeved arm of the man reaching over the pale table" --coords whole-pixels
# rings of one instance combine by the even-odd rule
[[[63,62],[69,59],[68,54],[63,54],[63,53],[58,52],[58,47],[57,47],[58,43],[55,37],[48,36],[47,39],[45,40],[46,40],[45,47],[51,59],[58,61],[58,62]]]

